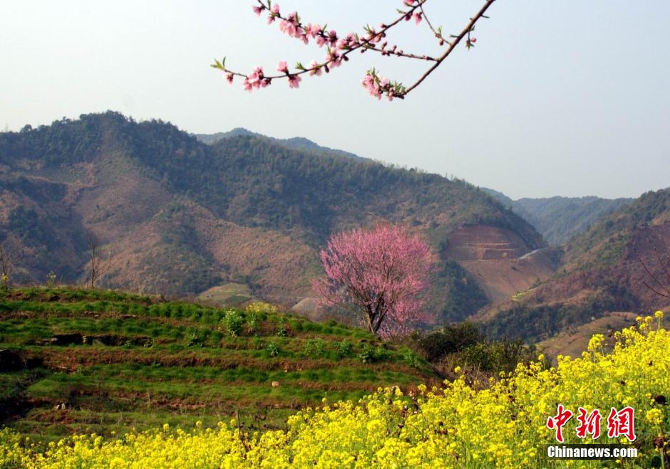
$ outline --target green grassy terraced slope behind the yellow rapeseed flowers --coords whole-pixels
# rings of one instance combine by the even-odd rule
[[[268,305],[220,309],[107,290],[0,292],[0,418],[51,441],[239,417],[283,428],[303,406],[438,380],[413,352]]]

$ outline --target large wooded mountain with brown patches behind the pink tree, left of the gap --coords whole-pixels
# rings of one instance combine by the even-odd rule
[[[530,223],[463,181],[249,135],[205,144],[115,112],[1,134],[0,184],[0,243],[24,282],[51,271],[82,282],[93,240],[100,286],[184,296],[232,284],[294,305],[311,295],[331,233],[390,221],[440,253],[431,308],[445,322],[490,301],[448,255],[456,231],[493,230],[513,255],[544,246]],[[521,275],[520,287],[535,278]]]

